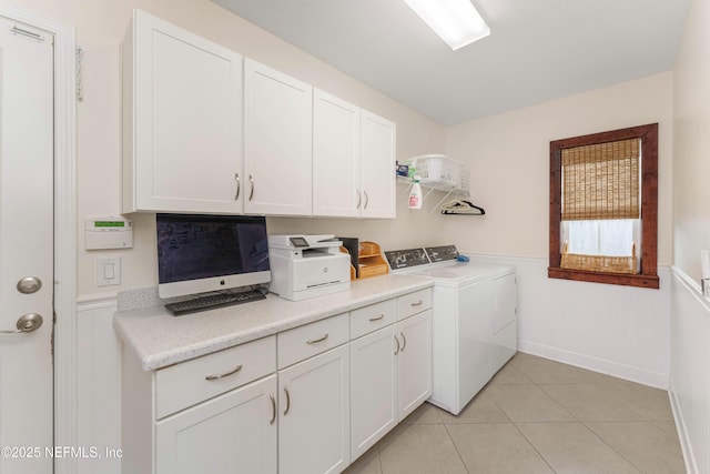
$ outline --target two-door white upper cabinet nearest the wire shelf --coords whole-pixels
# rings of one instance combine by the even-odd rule
[[[314,91],[313,214],[396,216],[395,124]]]

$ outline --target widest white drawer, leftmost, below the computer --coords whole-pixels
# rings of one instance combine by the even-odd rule
[[[276,336],[161,369],[155,372],[155,416],[160,420],[274,372]]]

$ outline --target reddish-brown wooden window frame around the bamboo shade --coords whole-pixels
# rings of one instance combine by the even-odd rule
[[[641,251],[640,273],[621,274],[561,269],[561,191],[562,150],[638,138],[641,140]],[[550,142],[550,238],[549,268],[551,279],[609,283],[658,289],[658,123]]]

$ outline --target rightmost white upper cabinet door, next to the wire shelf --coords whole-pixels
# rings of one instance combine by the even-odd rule
[[[362,111],[361,190],[363,218],[396,218],[396,125]]]

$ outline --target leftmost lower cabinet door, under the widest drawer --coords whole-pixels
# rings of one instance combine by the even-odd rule
[[[156,474],[276,473],[276,375],[156,423]]]

